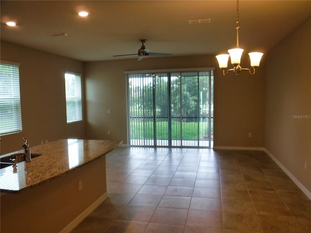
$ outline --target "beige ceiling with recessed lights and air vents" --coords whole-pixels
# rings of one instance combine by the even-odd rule
[[[151,52],[218,54],[236,46],[235,0],[1,0],[1,40],[80,61]],[[88,17],[78,16],[86,10]],[[240,47],[267,52],[311,17],[311,0],[240,0]],[[210,18],[210,23],[189,24]],[[4,23],[15,20],[17,27]],[[51,33],[67,33],[51,36]],[[294,45],[293,45],[294,46]]]

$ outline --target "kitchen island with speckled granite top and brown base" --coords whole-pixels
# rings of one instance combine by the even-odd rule
[[[32,147],[42,155],[17,171],[0,169],[1,233],[70,232],[107,198],[104,155],[120,144],[61,139]]]

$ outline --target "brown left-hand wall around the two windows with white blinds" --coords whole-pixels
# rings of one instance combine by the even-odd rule
[[[18,62],[22,133],[1,136],[0,153],[21,150],[23,137],[41,141],[84,137],[85,121],[66,123],[64,72],[83,72],[83,63],[1,41],[1,60]]]

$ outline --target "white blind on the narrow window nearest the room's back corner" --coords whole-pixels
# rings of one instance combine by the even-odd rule
[[[65,73],[67,123],[82,120],[81,75]]]

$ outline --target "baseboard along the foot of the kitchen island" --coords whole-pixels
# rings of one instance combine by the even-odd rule
[[[90,213],[92,213],[106,198],[108,193],[105,192],[99,199],[97,199],[93,204],[86,208],[79,216],[77,216],[73,221],[71,221],[60,233],[70,233],[80,222],[83,221]]]

